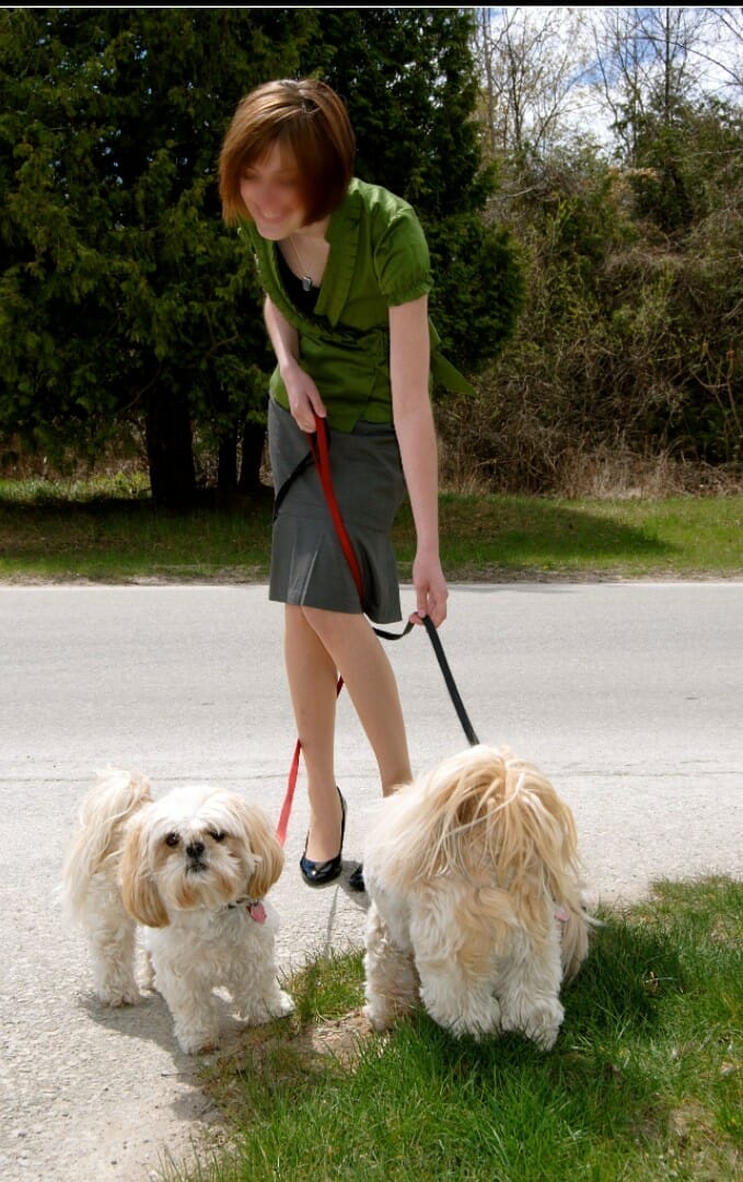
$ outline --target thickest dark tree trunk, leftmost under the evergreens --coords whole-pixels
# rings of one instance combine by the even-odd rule
[[[145,434],[154,504],[185,508],[196,496],[187,396],[155,387],[149,398]]]

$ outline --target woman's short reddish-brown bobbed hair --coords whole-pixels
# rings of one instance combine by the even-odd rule
[[[291,78],[263,83],[237,105],[220,152],[220,197],[228,225],[249,217],[240,196],[245,168],[278,143],[300,176],[305,223],[335,209],[353,176],[356,137],[344,102],[326,83]]]

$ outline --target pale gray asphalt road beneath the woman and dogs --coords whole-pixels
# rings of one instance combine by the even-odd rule
[[[455,585],[441,638],[478,738],[532,759],[572,805],[593,901],[741,876],[742,582]],[[467,740],[423,629],[387,651],[422,771]],[[138,1182],[219,1139],[161,999],[106,1012],[92,998],[56,888],[97,768],[138,768],[156,792],[222,784],[278,819],[294,742],[263,585],[0,587],[5,1182]],[[378,788],[345,694],[338,777],[350,871]],[[287,970],[358,947],[364,927],[346,876],[299,877],[302,787],[272,892]]]

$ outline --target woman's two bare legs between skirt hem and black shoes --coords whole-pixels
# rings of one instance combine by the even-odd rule
[[[340,845],[334,771],[338,673],[371,743],[385,795],[412,779],[405,723],[395,673],[364,616],[287,605],[285,661],[307,769],[306,855],[324,862],[335,857]]]

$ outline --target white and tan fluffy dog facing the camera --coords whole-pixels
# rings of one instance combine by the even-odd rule
[[[276,916],[265,900],[282,868],[263,812],[237,793],[196,786],[154,800],[145,777],[102,773],[83,801],[63,875],[100,1000],[139,998],[141,924],[145,983],[165,999],[187,1053],[216,1045],[215,987],[229,991],[250,1022],[291,1013],[276,981]]]

